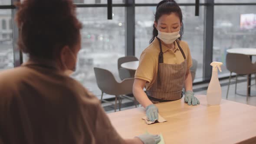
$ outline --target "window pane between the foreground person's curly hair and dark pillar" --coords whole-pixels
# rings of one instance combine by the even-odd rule
[[[113,20],[107,20],[106,12],[106,7],[77,9],[82,49],[73,76],[95,95],[101,92],[93,68],[108,69],[119,79],[117,61],[125,56],[125,7],[113,7]]]

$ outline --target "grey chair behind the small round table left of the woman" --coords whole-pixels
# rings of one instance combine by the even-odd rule
[[[122,63],[132,61],[138,61],[138,58],[136,58],[135,56],[125,56],[118,59],[118,73],[121,80],[127,78],[134,78],[135,70],[129,70],[121,67]]]

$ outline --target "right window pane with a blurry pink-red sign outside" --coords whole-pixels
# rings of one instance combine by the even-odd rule
[[[255,9],[256,6],[214,7],[213,61],[224,64],[220,76],[229,73],[225,63],[226,49],[256,48]]]

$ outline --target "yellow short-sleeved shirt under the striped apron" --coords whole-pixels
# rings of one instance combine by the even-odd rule
[[[192,66],[192,58],[190,55],[190,49],[186,42],[180,41],[181,49],[187,59],[187,69]],[[167,46],[162,44],[162,51],[164,56],[164,63],[166,64],[181,64],[184,62],[184,57],[182,56],[181,50],[174,44],[174,49],[171,50]],[[146,80],[146,89],[148,90],[152,84],[157,79],[158,72],[158,56],[160,52],[158,39],[155,38],[154,41],[141,53],[138,69],[135,72],[136,79]]]

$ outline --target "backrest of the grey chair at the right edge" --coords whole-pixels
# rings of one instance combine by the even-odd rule
[[[237,74],[248,75],[256,73],[255,65],[253,65],[249,56],[243,54],[227,53],[226,68],[230,72]]]

